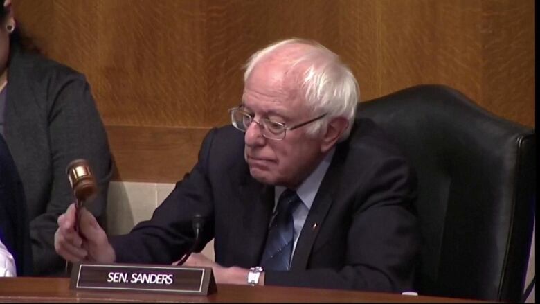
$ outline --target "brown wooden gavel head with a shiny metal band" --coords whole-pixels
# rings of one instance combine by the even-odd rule
[[[78,202],[88,202],[96,197],[98,186],[86,159],[71,161],[66,168],[66,174]]]

